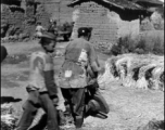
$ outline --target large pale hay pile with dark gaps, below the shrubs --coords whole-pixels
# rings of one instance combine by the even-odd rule
[[[119,78],[124,87],[164,91],[164,56],[123,54],[109,58],[99,82]],[[100,83],[102,87],[103,84]]]

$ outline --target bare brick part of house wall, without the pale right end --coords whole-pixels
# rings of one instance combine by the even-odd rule
[[[79,14],[77,13],[73,38],[77,37],[79,27],[92,27],[90,41],[97,49],[106,51],[116,42],[118,25],[107,17],[110,11],[106,8],[96,2],[84,2],[75,9],[79,10]]]

